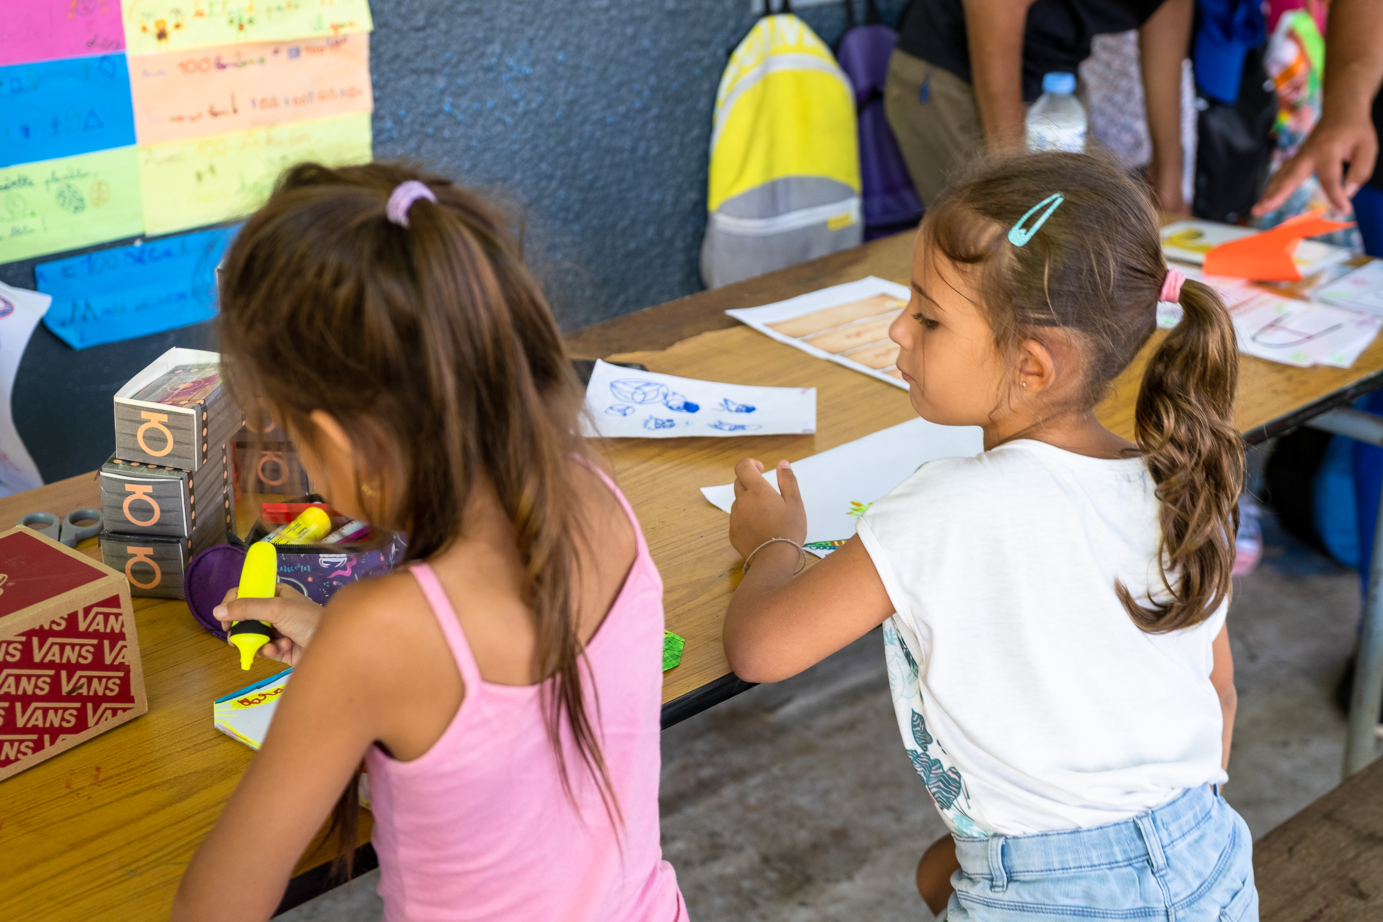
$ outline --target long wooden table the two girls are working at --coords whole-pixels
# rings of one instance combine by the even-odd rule
[[[798,460],[911,418],[902,389],[810,359],[722,311],[869,274],[906,281],[910,251],[910,235],[875,241],[567,338],[574,357],[624,353],[656,371],[817,388],[815,436],[621,440],[607,447],[662,572],[668,626],[687,641],[682,665],[665,676],[665,724],[743,687],[721,649],[739,558],[725,537],[725,514],[697,487],[727,482],[745,454]],[[1261,440],[1383,383],[1383,339],[1347,371],[1246,357],[1241,381],[1239,426]],[[1124,435],[1134,390],[1135,378],[1126,377],[1101,407],[1102,418]],[[87,505],[100,505],[94,475],[0,500],[0,523],[24,512]],[[93,552],[95,541],[83,550]],[[136,623],[149,713],[0,782],[0,919],[166,918],[184,867],[250,759],[249,749],[212,727],[212,700],[279,666],[259,662],[250,673],[239,671],[234,653],[177,601],[137,599]],[[366,814],[362,842],[369,829]],[[322,885],[325,858],[314,843],[297,865],[290,896]]]

